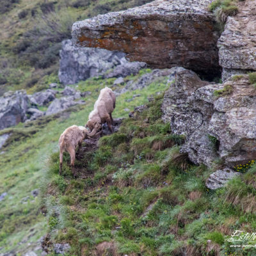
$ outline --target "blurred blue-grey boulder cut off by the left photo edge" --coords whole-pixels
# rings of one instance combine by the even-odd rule
[[[0,102],[0,130],[26,121],[29,98],[25,90],[6,92]]]

